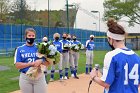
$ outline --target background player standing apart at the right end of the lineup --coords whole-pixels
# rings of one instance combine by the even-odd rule
[[[86,72],[85,74],[89,74],[92,70],[93,64],[93,50],[94,50],[94,35],[90,35],[90,40],[86,41]]]

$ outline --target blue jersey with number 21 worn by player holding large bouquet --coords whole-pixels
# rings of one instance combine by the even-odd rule
[[[38,49],[36,45],[27,46],[26,44],[24,44],[18,47],[15,53],[15,62],[22,62],[22,63],[34,62],[35,60],[38,59],[37,50]],[[20,69],[19,71],[26,73],[29,68],[30,67],[26,67]]]

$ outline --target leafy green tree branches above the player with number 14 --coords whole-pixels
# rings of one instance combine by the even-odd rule
[[[104,2],[104,20],[115,17],[117,20],[127,18],[130,26],[140,24],[140,0],[106,0]]]

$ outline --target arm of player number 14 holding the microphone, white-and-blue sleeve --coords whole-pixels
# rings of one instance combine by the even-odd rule
[[[109,88],[110,85],[113,83],[114,81],[114,64],[112,64],[111,57],[112,54],[108,53],[105,56],[104,59],[104,67],[103,67],[103,76],[101,78],[97,77],[98,76],[98,72],[94,69],[91,71],[90,76],[91,78],[98,83],[99,85],[105,87],[105,88]],[[109,57],[110,56],[110,57]]]

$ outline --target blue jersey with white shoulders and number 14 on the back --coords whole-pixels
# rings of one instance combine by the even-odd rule
[[[101,79],[110,85],[104,93],[138,93],[140,58],[130,49],[117,48],[104,59]]]

